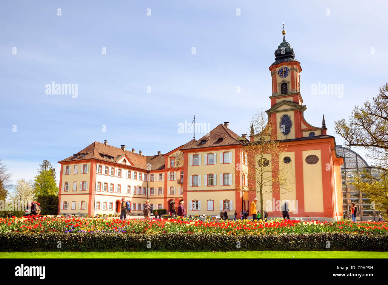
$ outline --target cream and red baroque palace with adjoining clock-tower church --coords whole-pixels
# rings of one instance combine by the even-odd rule
[[[279,205],[289,200],[291,219],[342,219],[343,157],[336,154],[334,136],[327,135],[324,118],[321,127],[304,118],[302,69],[284,34],[269,67],[272,94],[266,112],[272,123],[271,139],[286,149],[275,159],[288,169],[289,190],[266,189],[265,211],[269,217],[281,217]],[[148,197],[152,209],[174,212],[183,200],[189,215],[217,216],[227,211],[232,218],[236,210],[239,217],[253,199],[260,201],[257,181],[248,175],[256,169],[248,166],[251,155],[246,147],[257,143],[257,137],[253,131],[248,138],[239,136],[224,122],[166,154],[146,156],[126,150],[125,145],[94,142],[59,161],[59,214],[118,213],[124,197],[132,214],[142,215]],[[259,202],[256,206],[260,209]]]

